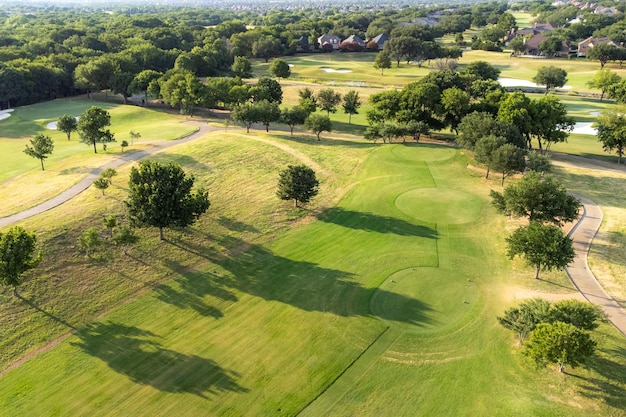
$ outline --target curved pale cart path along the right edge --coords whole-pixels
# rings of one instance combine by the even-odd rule
[[[577,198],[583,204],[583,215],[568,234],[574,240],[576,258],[565,271],[583,297],[600,306],[611,323],[626,336],[626,311],[604,291],[587,264],[591,242],[602,223],[602,210],[587,198]]]

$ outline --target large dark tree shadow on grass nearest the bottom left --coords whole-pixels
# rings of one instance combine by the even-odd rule
[[[120,323],[94,323],[77,333],[73,342],[85,353],[104,361],[133,382],[163,392],[187,392],[202,398],[219,392],[247,392],[239,375],[210,359],[164,348],[158,336]]]

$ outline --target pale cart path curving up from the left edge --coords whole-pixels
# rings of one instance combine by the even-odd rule
[[[29,217],[33,217],[36,216],[37,214],[41,214],[44,213],[50,209],[53,209],[57,206],[60,206],[61,204],[71,200],[72,198],[76,197],[78,194],[82,193],[83,191],[85,191],[87,188],[89,188],[89,186],[91,184],[93,184],[94,180],[96,178],[98,178],[98,176],[100,175],[100,173],[107,169],[107,168],[118,168],[121,165],[124,165],[127,162],[131,162],[131,161],[136,161],[138,159],[141,159],[145,156],[148,155],[152,155],[155,154],[157,152],[160,152],[164,149],[170,148],[172,146],[176,146],[176,145],[180,145],[181,143],[185,143],[185,142],[189,142],[195,139],[198,139],[202,136],[204,136],[207,132],[212,131],[212,130],[216,130],[215,127],[211,127],[209,125],[207,125],[205,122],[187,122],[188,124],[193,124],[194,126],[198,127],[198,131],[192,133],[189,136],[185,136],[182,139],[178,139],[178,140],[172,140],[172,141],[167,141],[161,144],[158,144],[150,149],[146,149],[145,151],[140,151],[140,152],[134,152],[134,153],[129,153],[128,155],[124,155],[121,156],[120,158],[111,161],[101,167],[98,167],[94,170],[92,170],[89,174],[87,174],[87,176],[85,178],[83,178],[82,180],[80,180],[79,182],[77,182],[76,184],[74,184],[73,186],[71,186],[70,188],[68,188],[67,190],[65,190],[64,192],[62,192],[61,194],[52,197],[50,200],[44,201],[41,204],[38,204],[34,207],[31,207],[29,209],[20,211],[18,213],[12,214],[10,216],[7,217],[2,217],[0,218],[0,227],[4,227],[4,226],[8,226],[10,224],[16,223],[18,221],[27,219]]]

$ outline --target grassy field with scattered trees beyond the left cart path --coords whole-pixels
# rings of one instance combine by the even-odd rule
[[[63,114],[78,116],[91,106],[100,106],[111,113],[111,131],[117,142],[107,144],[106,152],[98,145],[99,153],[94,154],[92,146],[80,143],[76,132],[68,141],[65,133],[46,127]],[[185,119],[156,109],[79,99],[55,100],[16,109],[11,117],[0,121],[0,200],[5,202],[0,208],[0,217],[54,197],[92,169],[118,157],[122,140],[133,143],[131,130],[139,132],[141,138],[134,141],[126,153],[146,149],[155,141],[178,139],[192,133],[193,126],[182,124]],[[39,160],[23,152],[32,136],[39,133],[49,135],[55,145],[54,152],[44,162],[43,172]],[[11,198],[17,190],[20,198]]]

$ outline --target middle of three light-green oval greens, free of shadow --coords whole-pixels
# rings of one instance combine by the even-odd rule
[[[415,219],[437,224],[477,220],[483,202],[475,195],[449,188],[416,188],[400,194],[396,207]]]

